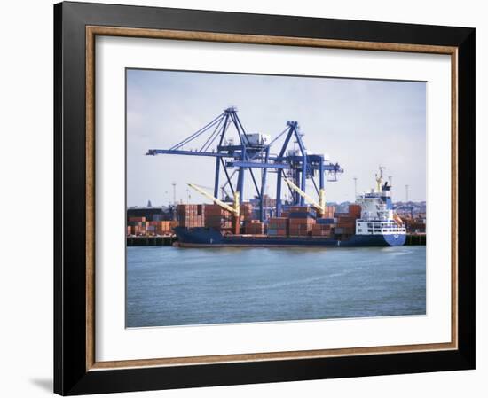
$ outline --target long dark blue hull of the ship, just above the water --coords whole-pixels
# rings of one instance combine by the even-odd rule
[[[361,247],[361,246],[402,246],[405,234],[397,235],[352,235],[350,238],[320,237],[268,237],[250,235],[222,235],[218,230],[207,227],[173,229],[177,234],[178,245],[182,247],[218,246],[316,246],[316,247]]]

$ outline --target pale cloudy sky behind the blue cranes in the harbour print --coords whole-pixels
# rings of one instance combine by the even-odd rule
[[[298,121],[307,150],[327,153],[344,169],[338,181],[326,183],[327,201],[353,201],[354,177],[358,193],[374,188],[379,165],[384,176],[392,176],[394,201],[405,200],[406,184],[410,200],[425,200],[425,82],[140,69],[128,69],[126,79],[128,206],[146,206],[148,200],[153,206],[169,204],[172,183],[178,202],[209,202],[186,184],[211,191],[214,158],[145,154],[169,149],[229,106],[238,109],[248,133],[273,138],[287,121]],[[207,137],[185,149],[200,147]],[[279,152],[283,140],[272,152]],[[274,176],[267,189],[273,198]],[[246,179],[244,199],[249,199],[255,191],[248,173]],[[312,183],[307,189],[314,192]]]

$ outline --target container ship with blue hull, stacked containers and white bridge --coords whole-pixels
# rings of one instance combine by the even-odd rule
[[[402,246],[406,230],[393,209],[391,186],[382,183],[381,175],[376,181],[376,190],[359,195],[344,213],[336,212],[334,206],[319,204],[290,206],[285,207],[279,217],[259,222],[250,219],[250,207],[246,204],[226,205],[229,208],[223,203],[180,205],[177,210],[179,226],[173,229],[177,234],[177,246]],[[300,191],[292,182],[287,183]],[[232,219],[232,210],[235,214],[236,208],[241,208],[242,212],[238,211],[238,216]],[[194,225],[195,217],[199,216],[201,226],[185,226]],[[242,228],[243,233],[240,233]]]

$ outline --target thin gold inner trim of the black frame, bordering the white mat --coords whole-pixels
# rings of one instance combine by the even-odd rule
[[[204,355],[96,362],[95,358],[95,37],[97,35],[192,40],[219,43],[289,45],[364,51],[399,51],[451,55],[451,341],[382,347],[348,347],[305,351],[280,351],[236,355]],[[289,359],[324,358],[346,355],[397,354],[458,348],[458,49],[457,47],[344,41],[270,35],[238,35],[197,31],[143,29],[131,27],[86,27],[86,370],[177,366],[204,363],[238,363]]]

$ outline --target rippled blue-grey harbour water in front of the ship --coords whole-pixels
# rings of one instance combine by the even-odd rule
[[[127,248],[127,327],[425,314],[425,246]]]

